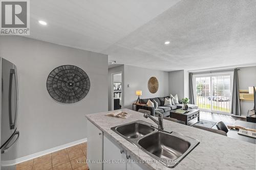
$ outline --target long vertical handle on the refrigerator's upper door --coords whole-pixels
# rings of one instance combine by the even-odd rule
[[[16,87],[16,110],[14,114],[14,122],[12,120],[12,79],[13,75],[15,76],[15,87]],[[17,123],[17,114],[18,114],[18,81],[17,81],[17,74],[15,69],[10,69],[10,82],[9,82],[9,124],[10,129],[16,128]]]

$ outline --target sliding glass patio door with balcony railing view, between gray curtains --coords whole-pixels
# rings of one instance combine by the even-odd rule
[[[196,105],[205,111],[230,113],[232,74],[196,75]]]

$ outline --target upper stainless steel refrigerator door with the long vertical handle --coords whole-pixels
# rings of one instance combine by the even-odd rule
[[[1,147],[15,132],[17,118],[16,70],[14,64],[1,58]]]

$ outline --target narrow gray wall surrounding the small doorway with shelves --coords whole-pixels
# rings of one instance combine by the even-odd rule
[[[111,104],[112,104],[112,98],[111,96],[113,95],[112,94],[112,87],[113,85],[111,84],[111,76],[113,73],[116,73],[116,72],[122,72],[122,79],[124,79],[124,65],[120,65],[120,66],[117,66],[117,67],[113,67],[113,68],[110,68],[109,69],[109,72],[108,72],[108,91],[109,91],[109,97],[108,97],[108,108],[109,108],[109,111],[112,110],[111,108]],[[122,80],[122,82],[124,82]],[[124,102],[124,99],[123,99],[123,96],[124,96],[124,90],[123,90],[123,85],[122,85],[122,106],[123,106],[123,102]]]

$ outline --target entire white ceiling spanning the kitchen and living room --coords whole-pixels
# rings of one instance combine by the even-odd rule
[[[44,0],[31,1],[31,17],[31,38],[117,64],[168,71],[256,63],[255,0]]]

